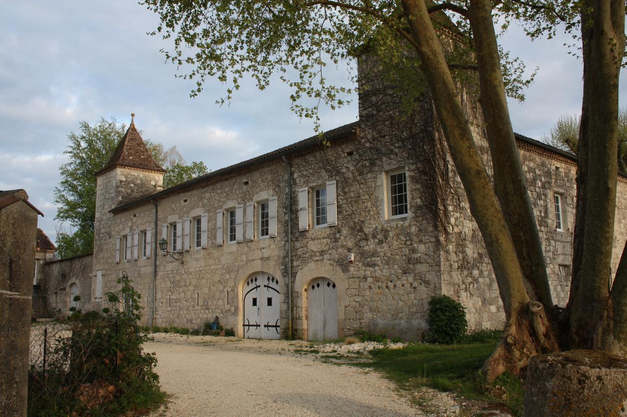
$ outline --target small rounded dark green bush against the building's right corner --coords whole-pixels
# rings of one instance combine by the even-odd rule
[[[447,296],[431,297],[427,323],[429,328],[423,333],[423,339],[432,343],[462,342],[468,330],[464,307]]]

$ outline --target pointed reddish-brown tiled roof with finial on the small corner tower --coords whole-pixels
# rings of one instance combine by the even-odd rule
[[[124,136],[122,136],[122,140],[118,143],[107,165],[105,165],[102,170],[98,171],[96,175],[100,175],[100,173],[106,172],[113,167],[129,167],[140,170],[166,172],[166,170],[159,167],[154,159],[152,159],[152,155],[148,148],[146,148],[142,136],[139,135],[139,131],[135,128],[134,121],[130,122],[129,129],[124,133]]]

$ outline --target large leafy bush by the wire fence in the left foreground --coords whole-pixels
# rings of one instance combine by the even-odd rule
[[[45,372],[31,366],[28,374],[29,416],[134,415],[164,401],[157,359],[142,349],[148,336],[138,324],[140,295],[127,277],[118,283],[122,288],[107,294],[107,313],[75,312],[63,336],[49,333]]]

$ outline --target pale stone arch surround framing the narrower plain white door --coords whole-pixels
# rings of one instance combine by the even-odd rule
[[[294,311],[298,311],[299,321],[302,328],[302,337],[307,339],[307,294],[305,292],[309,282],[316,278],[326,277],[332,280],[337,286],[337,336],[344,337],[345,319],[344,309],[348,306],[349,300],[346,296],[347,279],[344,272],[337,264],[329,261],[314,261],[305,265],[296,274],[294,290],[298,291],[298,297],[294,301]]]

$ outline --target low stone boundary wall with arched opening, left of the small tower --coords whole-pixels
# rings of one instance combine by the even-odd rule
[[[43,264],[43,276],[39,285],[51,317],[64,319],[71,314],[71,306],[82,311],[100,308],[100,304],[94,303],[92,297],[92,263],[93,257],[90,254]],[[73,284],[78,287],[80,302],[72,299]]]

